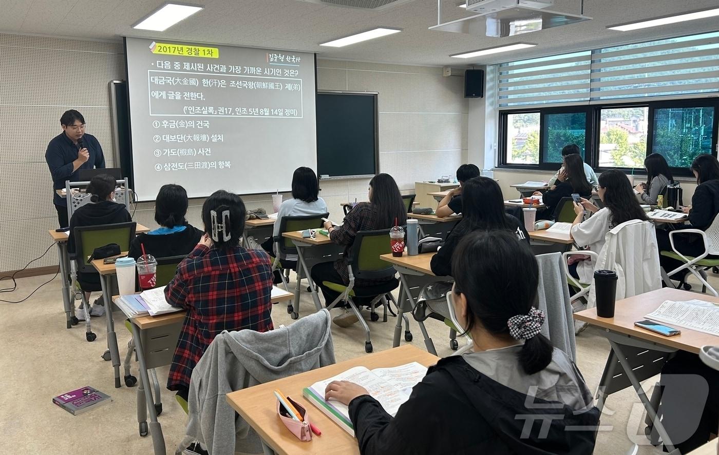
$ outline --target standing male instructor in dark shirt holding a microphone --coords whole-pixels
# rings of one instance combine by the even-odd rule
[[[53,200],[58,210],[60,228],[67,228],[68,201],[58,194],[65,188],[65,180],[78,181],[78,169],[104,169],[105,157],[102,147],[95,136],[85,133],[85,118],[81,113],[70,109],[60,117],[63,132],[47,144],[45,161],[52,174]]]

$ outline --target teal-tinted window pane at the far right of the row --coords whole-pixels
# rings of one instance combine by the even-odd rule
[[[689,167],[697,155],[713,152],[716,108],[709,105],[654,109],[651,151],[672,167]]]

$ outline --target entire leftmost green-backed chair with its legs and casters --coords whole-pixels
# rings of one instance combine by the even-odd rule
[[[134,221],[120,222],[114,225],[96,225],[96,226],[78,226],[75,228],[75,253],[70,256],[71,260],[77,263],[77,271],[81,273],[97,273],[96,269],[88,261],[95,248],[99,248],[109,243],[117,243],[120,251],[127,251],[130,248],[130,242],[135,236],[135,228],[137,224]],[[80,291],[83,308],[85,309],[85,338],[88,342],[95,341],[97,335],[90,329],[90,304],[86,299],[85,293],[92,291],[102,291],[100,284],[93,286],[92,289],[83,289],[83,286],[75,279],[75,288]],[[105,302],[105,311],[108,312],[108,318],[112,317],[112,302]],[[70,306],[71,316],[74,322],[75,306]],[[109,327],[109,326],[108,326]]]

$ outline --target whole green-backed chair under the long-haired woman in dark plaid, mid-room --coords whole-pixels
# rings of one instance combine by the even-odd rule
[[[365,341],[365,352],[372,352],[372,340],[370,339],[370,327],[359,313],[357,304],[354,303],[354,297],[371,297],[370,302],[370,319],[372,322],[380,319],[379,314],[375,311],[375,304],[382,302],[384,307],[383,322],[387,322],[388,299],[393,301],[395,306],[397,301],[392,296],[392,291],[398,288],[399,281],[395,278],[395,268],[387,261],[383,261],[380,255],[391,253],[390,249],[390,230],[361,230],[357,233],[352,244],[352,250],[349,251],[347,258],[347,269],[349,271],[349,284],[333,283],[331,281],[323,281],[322,284],[333,291],[341,293],[334,301],[327,306],[327,309],[333,309],[340,301],[346,301],[349,308],[362,323],[362,327],[367,334]],[[387,278],[386,281],[380,282],[372,286],[355,286],[356,280],[377,280]],[[405,319],[409,324],[408,319]]]

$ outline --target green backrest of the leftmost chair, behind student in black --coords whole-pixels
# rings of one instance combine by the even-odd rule
[[[134,221],[119,222],[113,225],[78,226],[75,228],[75,252],[78,255],[78,271],[96,272],[88,262],[95,248],[117,243],[120,251],[130,249],[130,243],[135,236],[137,223]]]

